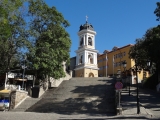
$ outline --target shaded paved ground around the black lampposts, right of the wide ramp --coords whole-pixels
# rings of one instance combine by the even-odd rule
[[[123,115],[137,116],[137,93],[136,87],[131,87],[129,96],[128,89],[122,90],[121,105]],[[140,115],[148,119],[160,119],[160,93],[155,90],[139,88]]]

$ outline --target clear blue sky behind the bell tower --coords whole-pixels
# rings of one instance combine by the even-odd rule
[[[45,0],[61,12],[70,26],[66,29],[72,41],[70,57],[76,56],[80,25],[92,24],[97,32],[95,48],[99,53],[135,44],[147,29],[159,24],[154,10],[159,0]]]

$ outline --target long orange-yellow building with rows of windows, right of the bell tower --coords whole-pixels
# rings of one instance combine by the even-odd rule
[[[129,51],[132,44],[123,47],[113,47],[112,51],[104,51],[98,56],[98,67],[100,76],[116,76],[117,73],[121,76],[130,76],[131,83],[136,83],[135,61],[129,58]],[[106,59],[107,58],[107,59]],[[126,62],[126,67],[123,67],[123,62]],[[148,76],[148,72],[138,69],[138,82],[141,82],[144,77]]]

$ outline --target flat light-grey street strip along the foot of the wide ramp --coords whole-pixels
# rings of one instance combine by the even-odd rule
[[[146,116],[144,115],[118,115],[118,116],[106,116],[106,115],[87,115],[87,114],[72,114],[72,115],[65,115],[65,114],[56,114],[56,113],[35,113],[35,112],[0,112],[0,120],[62,120],[62,119],[145,119]],[[158,119],[157,119],[158,120]]]

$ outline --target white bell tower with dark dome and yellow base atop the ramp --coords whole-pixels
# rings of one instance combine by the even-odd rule
[[[93,26],[87,21],[78,32],[78,50],[76,50],[75,77],[98,77],[97,53],[95,50]]]

